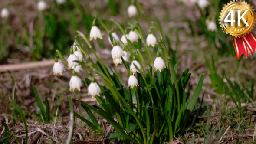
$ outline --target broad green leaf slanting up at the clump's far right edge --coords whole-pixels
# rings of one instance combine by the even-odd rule
[[[200,95],[200,92],[201,92],[201,89],[203,86],[203,79],[204,79],[204,75],[201,76],[201,78],[197,84],[197,87],[194,91],[194,94],[191,96],[190,101],[187,104],[187,109],[190,110],[191,112],[193,111],[193,109],[197,103],[197,99]]]

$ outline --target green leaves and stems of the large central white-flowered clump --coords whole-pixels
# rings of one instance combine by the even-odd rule
[[[108,31],[105,24],[98,18],[93,23],[95,21],[98,21],[105,31],[109,33],[111,42],[116,43],[112,37],[112,32]],[[122,26],[113,20],[112,22],[125,35],[125,30]],[[155,144],[171,141],[175,134],[181,133],[184,130],[191,112],[195,110],[195,105],[203,85],[204,75],[201,76],[192,95],[190,95],[190,90],[186,92],[185,88],[190,79],[189,70],[186,69],[181,74],[180,79],[177,78],[177,65],[174,65],[168,55],[167,47],[171,49],[169,48],[170,44],[168,46],[165,45],[160,26],[153,25],[150,29],[156,29],[160,35],[158,52],[159,49],[162,50],[161,54],[165,57],[166,68],[161,71],[153,69],[152,54],[143,39],[141,26],[139,23],[130,25],[126,29],[132,29],[138,33],[140,39],[138,44],[132,43],[129,39],[127,39],[127,45],[121,42],[118,44],[123,49],[128,49],[133,60],[136,58],[141,64],[141,69],[138,68],[138,65],[135,65],[135,68],[138,70],[135,76],[138,79],[139,86],[129,88],[122,83],[121,76],[111,67],[103,64],[85,35],[77,31],[77,36],[75,36],[76,46],[79,47],[88,59],[88,62],[75,62],[81,65],[92,78],[95,76],[92,75],[92,71],[94,71],[105,85],[99,85],[102,94],[95,96],[99,105],[89,105],[81,101],[82,108],[88,113],[92,122],[78,113],[74,115],[96,132],[102,130],[93,112],[106,119],[115,129],[115,133],[109,134],[105,137],[106,139],[119,137],[121,140],[132,141],[136,144]],[[88,45],[89,50],[95,55],[97,63],[92,61],[88,53],[89,51],[85,50],[78,37],[82,37]],[[166,39],[169,43],[168,37]],[[144,46],[144,52],[141,51],[141,45]],[[61,52],[57,51],[57,54],[67,64]],[[124,61],[122,57],[121,60],[127,69],[128,75],[130,75],[131,70],[128,65],[131,63]],[[91,83],[91,80],[88,78],[82,80],[85,86]],[[118,121],[115,121],[115,118]]]

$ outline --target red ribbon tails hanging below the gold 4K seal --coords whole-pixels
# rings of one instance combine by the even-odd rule
[[[249,58],[248,49],[253,55],[256,48],[256,37],[253,35],[253,32],[250,32],[246,36],[241,36],[240,38],[233,37],[233,43],[236,51],[236,60],[239,59],[242,54]]]

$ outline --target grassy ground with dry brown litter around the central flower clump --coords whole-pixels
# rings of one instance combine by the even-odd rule
[[[49,2],[49,1],[47,1]],[[203,84],[203,90],[198,101],[200,107],[190,118],[185,133],[176,136],[177,139],[170,144],[178,144],[182,141],[191,141],[195,137],[195,142],[199,143],[234,143],[234,144],[252,144],[255,142],[256,134],[256,106],[255,89],[256,68],[253,58],[241,58],[236,61],[235,56],[226,52],[221,54],[214,43],[209,43],[207,35],[202,33],[202,27],[198,24],[200,21],[200,11],[198,7],[190,3],[181,3],[171,0],[138,0],[141,3],[143,15],[136,19],[141,24],[144,34],[148,33],[149,23],[158,21],[161,23],[164,35],[171,38],[173,49],[177,49],[178,73],[189,68],[191,79],[189,84],[192,91],[197,85],[202,74],[206,75]],[[53,3],[53,2],[52,2]],[[212,1],[213,3],[213,1]],[[74,41],[75,30],[79,29],[84,33],[89,33],[93,15],[102,20],[114,19],[122,24],[132,23],[126,16],[128,1],[115,1],[117,9],[110,8],[108,3],[103,0],[93,2],[83,1],[77,3],[76,0],[70,0],[69,4],[59,6],[56,3],[50,5],[53,12],[47,10],[44,14],[53,13],[59,17],[62,25],[56,28],[55,33],[49,32],[49,27],[42,26],[42,23],[52,23],[44,19],[42,13],[36,10],[34,0],[1,0],[1,7],[10,7],[10,19],[8,21],[0,20],[0,31],[2,46],[0,64],[17,64],[23,62],[38,61],[44,59],[53,59],[55,50],[61,49],[63,53],[69,51],[69,47]],[[76,5],[77,4],[77,5]],[[56,9],[54,9],[56,7]],[[83,13],[80,11],[82,10]],[[116,15],[115,15],[116,13]],[[62,20],[63,18],[63,20]],[[86,22],[86,20],[89,22]],[[71,22],[71,21],[74,22]],[[192,29],[190,24],[192,23]],[[46,22],[47,21],[47,22]],[[56,23],[56,22],[55,22]],[[65,26],[65,24],[71,26]],[[106,22],[108,26],[111,24]],[[58,26],[58,24],[56,24]],[[218,27],[219,28],[219,27]],[[59,30],[60,29],[60,30]],[[62,32],[61,38],[57,37]],[[67,34],[68,33],[68,34]],[[221,33],[223,34],[223,33]],[[52,35],[52,36],[51,36]],[[106,37],[107,33],[103,33]],[[121,33],[118,33],[121,36]],[[230,43],[231,37],[225,37],[227,43]],[[95,49],[104,46],[105,51],[98,52],[98,56],[105,59],[106,65],[111,65],[119,71],[118,67],[112,65],[110,57],[111,46],[107,40],[93,43]],[[232,44],[232,43],[231,43]],[[4,49],[4,50],[3,50]],[[221,49],[226,49],[225,46]],[[225,51],[225,50],[224,50]],[[106,56],[109,55],[109,56]],[[213,59],[211,59],[213,56]],[[209,65],[207,64],[209,62]],[[1,65],[0,65],[1,67]],[[64,73],[62,77],[53,76],[52,65],[44,67],[33,67],[17,69],[15,71],[0,71],[0,138],[7,135],[8,128],[10,134],[14,134],[8,142],[22,143],[26,137],[24,124],[20,115],[14,111],[9,98],[13,98],[25,114],[28,123],[30,142],[35,143],[64,143],[68,136],[69,127],[69,103],[67,96],[71,96],[75,105],[75,111],[82,113],[87,118],[87,114],[82,110],[79,101],[88,101],[96,104],[95,99],[87,94],[87,89],[82,88],[81,92],[69,91],[69,78],[71,73]],[[82,71],[85,73],[85,71]],[[86,75],[86,74],[85,74]],[[233,82],[235,89],[241,89],[239,97],[235,97],[232,92],[226,76]],[[221,79],[221,80],[220,80]],[[126,84],[124,79],[124,85]],[[213,82],[213,80],[216,81]],[[237,83],[237,85],[235,84]],[[50,107],[50,121],[42,122],[36,112],[36,98],[32,86],[35,86],[41,99],[46,97]],[[224,89],[225,92],[221,92]],[[232,100],[233,95],[235,102]],[[239,110],[235,105],[241,101],[242,108]],[[239,115],[242,110],[243,117]],[[98,117],[101,122],[104,133],[95,134],[85,123],[78,118],[75,120],[75,129],[73,140],[91,141],[93,144],[104,141],[107,134],[113,132],[112,127]],[[6,123],[6,127],[3,122]],[[40,131],[40,132],[38,132]],[[80,141],[82,143],[82,141]],[[77,142],[79,144],[79,142]]]

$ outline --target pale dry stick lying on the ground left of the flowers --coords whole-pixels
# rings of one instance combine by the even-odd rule
[[[54,59],[43,60],[39,62],[0,65],[0,72],[7,72],[7,70],[12,72],[12,71],[23,70],[23,69],[42,68],[42,67],[47,67],[53,64],[54,64]]]

